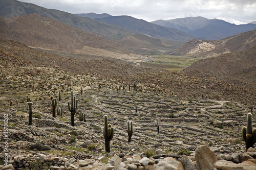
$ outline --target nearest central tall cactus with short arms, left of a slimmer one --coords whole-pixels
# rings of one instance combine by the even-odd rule
[[[105,139],[105,151],[110,152],[110,141],[114,137],[114,128],[108,123],[108,116],[104,115],[103,135]]]

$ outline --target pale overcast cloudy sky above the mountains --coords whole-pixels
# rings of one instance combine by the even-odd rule
[[[218,18],[237,25],[256,21],[255,0],[19,0],[69,13],[130,15],[146,21],[189,16]]]

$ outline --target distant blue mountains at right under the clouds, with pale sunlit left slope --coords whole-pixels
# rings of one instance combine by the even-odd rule
[[[247,23],[246,25],[234,25],[221,19],[207,19],[204,17],[185,17],[170,20],[156,20],[160,26],[175,28],[192,34],[197,39],[218,40],[228,36],[243,32],[256,30],[256,25]]]

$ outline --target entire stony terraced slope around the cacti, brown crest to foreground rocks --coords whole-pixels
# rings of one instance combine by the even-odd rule
[[[219,169],[254,168],[246,161],[253,162],[256,151],[246,153],[241,139],[250,110],[234,102],[235,96],[246,102],[246,89],[142,65],[68,59],[14,41],[1,41],[0,57],[0,132],[1,142],[7,143],[0,147],[0,158],[9,164],[1,169],[200,169],[209,160],[210,167]],[[82,62],[87,69],[81,69]],[[71,90],[78,99],[74,127],[68,110]],[[50,96],[63,108],[56,118]],[[233,101],[223,101],[229,97]],[[27,101],[33,103],[32,126]],[[80,112],[86,121],[79,120]],[[110,153],[104,148],[104,115],[115,131]],[[133,121],[131,143],[127,120]]]

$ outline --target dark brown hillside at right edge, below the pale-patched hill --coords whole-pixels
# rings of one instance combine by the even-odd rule
[[[188,75],[217,77],[244,87],[255,88],[256,45],[243,52],[220,55],[200,60],[185,68]],[[227,78],[228,77],[228,78]]]

